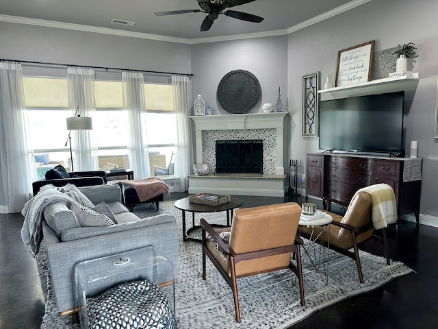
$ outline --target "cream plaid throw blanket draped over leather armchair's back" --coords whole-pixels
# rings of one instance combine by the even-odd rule
[[[371,195],[372,223],[376,230],[387,228],[388,224],[396,223],[396,196],[391,186],[388,184],[370,185],[357,191],[352,199],[355,199],[356,194],[359,192]]]

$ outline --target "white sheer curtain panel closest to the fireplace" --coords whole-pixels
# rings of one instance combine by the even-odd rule
[[[185,75],[172,75],[173,101],[177,114],[177,157],[175,158],[175,192],[188,191],[188,175],[193,164],[192,123],[189,118],[192,103],[192,81]]]

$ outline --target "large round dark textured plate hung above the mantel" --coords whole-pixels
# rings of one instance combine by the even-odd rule
[[[260,97],[259,80],[248,71],[231,71],[219,82],[218,101],[227,112],[246,113],[257,104]]]

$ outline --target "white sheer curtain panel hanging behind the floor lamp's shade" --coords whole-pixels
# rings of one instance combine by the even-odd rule
[[[72,117],[79,106],[78,114],[81,117],[92,117],[96,110],[94,99],[94,70],[81,67],[67,68],[68,106],[72,110]],[[99,168],[97,145],[92,138],[92,130],[72,130],[72,144],[75,145],[75,171],[90,171]]]

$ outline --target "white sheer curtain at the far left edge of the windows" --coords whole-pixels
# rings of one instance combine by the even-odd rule
[[[21,212],[31,197],[21,64],[0,62],[0,212]]]

